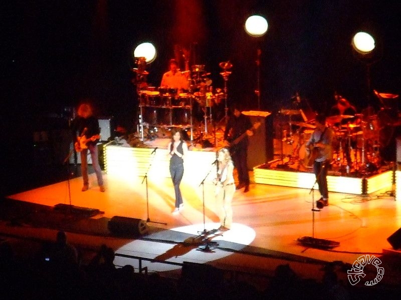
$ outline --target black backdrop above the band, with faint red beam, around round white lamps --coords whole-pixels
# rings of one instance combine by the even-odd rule
[[[219,62],[230,60],[229,102],[246,103],[248,109],[257,109],[258,47],[262,110],[277,111],[296,91],[320,111],[334,104],[335,90],[359,111],[380,108],[373,89],[400,92],[399,1],[7,2],[0,7],[7,150],[2,163],[13,169],[33,164],[33,132],[65,127],[66,107],[84,97],[93,100],[99,115],[135,130],[132,51],[143,41],[157,50],[156,60],[147,65],[151,85],[159,86],[174,45],[181,44],[192,48],[191,64],[205,64],[214,87],[224,87]],[[268,20],[263,37],[245,32],[245,20],[254,13]],[[351,47],[360,30],[376,38],[369,93],[366,64]]]

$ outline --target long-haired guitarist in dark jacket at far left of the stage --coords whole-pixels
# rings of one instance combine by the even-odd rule
[[[88,150],[91,153],[92,166],[95,170],[100,191],[104,192],[102,170],[99,165],[97,142],[100,138],[99,121],[93,115],[91,105],[82,103],[78,107],[77,117],[71,124],[74,148],[81,155],[81,172],[84,180],[82,191],[89,188],[88,178]]]

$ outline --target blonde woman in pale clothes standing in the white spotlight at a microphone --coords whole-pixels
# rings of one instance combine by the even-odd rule
[[[234,184],[234,164],[231,159],[230,152],[227,148],[222,148],[218,151],[218,171],[216,184],[216,202],[220,207],[219,218],[220,227],[219,230],[226,231],[231,228],[233,222],[233,208],[231,202],[235,193]]]

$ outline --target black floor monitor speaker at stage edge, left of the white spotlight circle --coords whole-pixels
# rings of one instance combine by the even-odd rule
[[[143,220],[116,215],[109,220],[107,228],[119,236],[139,236],[147,232],[147,225]]]

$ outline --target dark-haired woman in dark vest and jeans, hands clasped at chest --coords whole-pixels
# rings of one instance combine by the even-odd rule
[[[177,213],[184,205],[179,184],[181,183],[182,175],[184,174],[183,159],[188,152],[188,146],[182,140],[181,131],[179,129],[173,129],[171,133],[172,137],[171,141],[168,143],[167,149],[170,150],[168,152],[168,155],[170,156],[170,175],[175,191],[175,208],[172,212]]]

